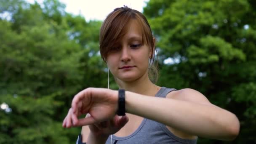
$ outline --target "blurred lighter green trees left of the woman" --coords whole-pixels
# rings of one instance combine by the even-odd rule
[[[81,128],[61,125],[73,96],[107,87],[97,50],[101,21],[64,8],[57,0],[0,0],[1,144],[74,143]]]

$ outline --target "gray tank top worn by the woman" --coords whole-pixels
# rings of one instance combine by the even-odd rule
[[[162,87],[155,95],[156,97],[165,98],[171,91],[176,91],[174,88]],[[81,137],[81,136],[80,136]],[[77,144],[81,142],[80,137],[77,139]],[[107,139],[106,144],[110,144],[111,136]],[[131,135],[125,137],[117,137],[112,135],[112,144],[196,144],[197,139],[181,139],[175,136],[162,123],[144,118]]]

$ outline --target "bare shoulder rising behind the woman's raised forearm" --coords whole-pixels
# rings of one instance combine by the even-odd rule
[[[181,101],[190,101],[198,104],[211,104],[210,101],[199,91],[191,88],[184,88],[179,91],[168,93],[166,98]]]

